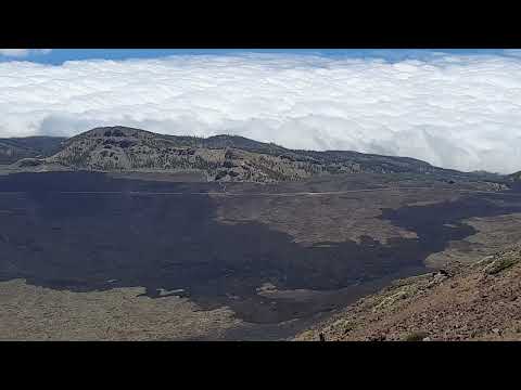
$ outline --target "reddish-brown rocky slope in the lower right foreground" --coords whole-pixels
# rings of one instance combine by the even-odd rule
[[[296,340],[521,340],[521,245],[395,282]]]

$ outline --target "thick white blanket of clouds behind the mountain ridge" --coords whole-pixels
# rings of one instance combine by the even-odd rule
[[[0,136],[125,125],[521,170],[521,60],[310,55],[0,63]]]

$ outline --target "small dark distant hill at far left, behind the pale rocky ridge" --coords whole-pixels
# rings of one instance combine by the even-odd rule
[[[12,164],[21,158],[48,157],[60,151],[61,136],[27,136],[0,139],[0,164]]]

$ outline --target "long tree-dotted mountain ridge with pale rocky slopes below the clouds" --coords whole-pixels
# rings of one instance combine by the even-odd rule
[[[96,128],[65,141],[50,139],[45,145],[40,154],[47,157],[25,158],[16,166],[98,171],[193,171],[204,173],[211,181],[277,182],[356,172],[430,174],[447,181],[484,178],[481,173],[442,169],[408,157],[345,151],[293,151],[237,135],[207,139],[163,135],[120,126]],[[55,153],[50,155],[50,151]],[[22,157],[36,157],[35,153]]]

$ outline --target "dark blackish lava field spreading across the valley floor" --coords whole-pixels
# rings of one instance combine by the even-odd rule
[[[339,240],[332,239],[333,231],[301,245],[267,223],[219,221],[217,210],[224,203],[278,191],[290,193],[277,202],[290,208],[295,203],[294,212],[306,212],[297,200],[306,195],[291,196],[291,186],[256,193],[246,184],[240,192],[240,185],[230,186],[236,195],[227,195],[231,190],[218,183],[103,173],[0,177],[0,282],[23,278],[35,286],[82,292],[144,287],[148,297],[181,296],[203,311],[228,307],[249,324],[254,338],[279,338],[288,335],[264,335],[263,326],[307,321],[390,278],[427,272],[429,255],[475,234],[465,219],[521,212],[520,192],[466,193],[452,202],[380,207],[378,219],[416,233],[412,238],[382,243],[363,235]],[[365,195],[331,196],[342,200]],[[258,294],[265,284],[296,292]],[[247,338],[233,335],[228,337]]]

